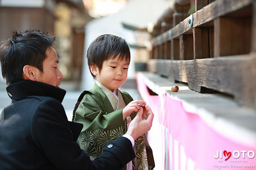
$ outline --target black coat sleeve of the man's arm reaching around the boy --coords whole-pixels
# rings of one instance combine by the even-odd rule
[[[55,99],[40,103],[31,122],[35,144],[60,170],[120,170],[135,157],[130,140],[119,137],[112,147],[91,161],[88,154],[74,142],[63,106]]]

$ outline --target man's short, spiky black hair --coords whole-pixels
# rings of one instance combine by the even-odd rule
[[[24,65],[31,65],[43,72],[46,50],[55,42],[55,36],[40,30],[12,31],[12,38],[0,44],[2,76],[6,84],[23,80]]]

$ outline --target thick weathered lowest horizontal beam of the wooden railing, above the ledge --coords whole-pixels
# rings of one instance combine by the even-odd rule
[[[154,60],[154,64],[158,61]],[[169,63],[157,65],[168,68],[168,79],[172,82],[188,83],[190,89],[198,92],[205,87],[226,93],[234,96],[239,104],[256,109],[256,57],[252,54],[170,60]]]

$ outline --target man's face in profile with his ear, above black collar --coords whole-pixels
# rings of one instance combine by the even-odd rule
[[[43,73],[37,74],[36,81],[59,87],[63,75],[58,69],[58,57],[56,51],[50,47],[46,50],[46,59],[43,62]],[[38,69],[39,71],[39,69]]]

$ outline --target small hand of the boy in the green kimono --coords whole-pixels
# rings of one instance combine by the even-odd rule
[[[124,109],[123,109],[123,121],[127,116],[130,116],[131,113],[137,112],[140,109],[140,106],[145,106],[146,102],[142,100],[134,100],[131,101]]]

